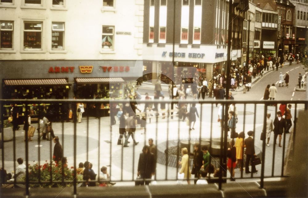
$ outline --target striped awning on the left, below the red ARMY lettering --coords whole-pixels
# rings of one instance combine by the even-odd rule
[[[6,85],[66,85],[66,79],[14,79],[4,80]]]

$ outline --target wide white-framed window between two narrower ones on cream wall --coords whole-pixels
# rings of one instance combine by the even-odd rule
[[[24,22],[24,49],[42,49],[42,22]]]

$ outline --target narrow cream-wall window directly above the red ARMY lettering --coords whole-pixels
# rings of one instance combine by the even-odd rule
[[[51,48],[64,50],[64,23],[52,23]]]

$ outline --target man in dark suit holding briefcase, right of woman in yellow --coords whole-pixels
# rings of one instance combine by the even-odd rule
[[[245,173],[250,173],[249,171],[249,161],[251,160],[251,171],[258,172],[255,165],[253,165],[252,161],[254,156],[256,156],[256,153],[254,151],[254,144],[253,144],[253,131],[248,131],[248,138],[245,139],[245,145],[246,145],[246,162],[245,162]]]

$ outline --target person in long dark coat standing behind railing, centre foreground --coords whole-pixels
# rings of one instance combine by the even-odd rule
[[[139,156],[138,162],[138,176],[140,179],[151,179],[151,176],[155,174],[156,162],[154,154],[150,152],[149,146],[145,145],[142,149],[142,153]],[[144,180],[140,182],[144,185]],[[149,185],[151,181],[145,181],[145,185]]]

